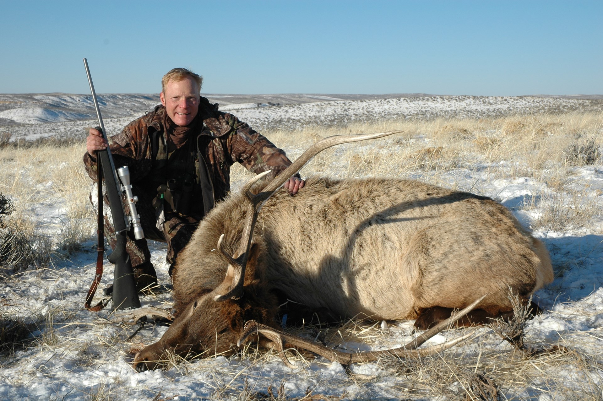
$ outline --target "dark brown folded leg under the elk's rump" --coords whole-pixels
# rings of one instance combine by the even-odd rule
[[[534,317],[542,312],[534,302],[530,302],[528,308],[530,317]],[[418,330],[427,330],[449,318],[453,310],[452,308],[444,308],[443,306],[433,306],[432,308],[423,309],[420,316],[415,320],[414,327]],[[456,321],[455,327],[478,326],[490,323],[491,319],[502,318],[509,320],[511,317],[513,317],[513,310],[492,314],[484,311],[484,309],[473,309],[466,316]]]

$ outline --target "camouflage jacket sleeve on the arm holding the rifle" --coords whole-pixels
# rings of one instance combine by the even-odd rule
[[[136,119],[126,125],[121,133],[111,137],[109,148],[116,168],[128,166],[130,177],[136,181],[151,169],[152,161],[147,136],[147,116]],[[86,172],[96,180],[96,157],[84,154],[84,167]]]

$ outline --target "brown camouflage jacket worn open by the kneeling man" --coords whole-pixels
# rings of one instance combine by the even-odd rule
[[[198,113],[203,119],[203,128],[197,134],[197,152],[203,157],[211,180],[213,201],[222,200],[230,191],[230,166],[235,162],[256,174],[271,169],[268,178],[280,174],[291,164],[283,150],[232,114],[219,112],[217,105],[210,104],[206,98],[201,97]],[[164,115],[165,107],[157,106],[112,136],[110,149],[115,165],[128,166],[134,185],[154,179],[150,177],[155,162],[151,138],[156,133],[165,136]],[[90,178],[96,180],[96,159],[87,152],[84,154],[84,166]]]

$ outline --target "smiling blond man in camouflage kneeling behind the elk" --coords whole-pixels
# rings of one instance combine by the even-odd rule
[[[169,274],[178,252],[191,239],[199,221],[230,190],[230,166],[239,162],[259,174],[278,175],[291,161],[285,152],[229,113],[218,111],[200,96],[203,78],[185,68],[174,68],[162,79],[161,105],[128,124],[112,137],[115,166],[130,169],[133,193],[147,239],[167,242]],[[107,142],[98,130],[86,138],[84,166],[96,180],[95,151]],[[295,195],[303,188],[298,175],[285,183]],[[91,195],[90,200],[94,197]],[[105,203],[108,204],[105,197]],[[105,207],[104,210],[109,210]],[[104,219],[109,244],[115,248],[115,230]],[[157,283],[146,239],[128,233],[130,255],[139,290]]]

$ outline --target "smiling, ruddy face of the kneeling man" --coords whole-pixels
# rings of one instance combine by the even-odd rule
[[[159,97],[169,118],[180,127],[191,124],[199,111],[199,87],[192,78],[169,81]]]

